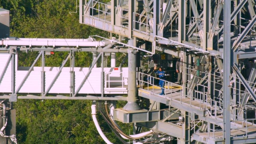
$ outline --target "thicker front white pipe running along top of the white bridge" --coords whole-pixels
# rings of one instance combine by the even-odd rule
[[[64,46],[64,47],[99,47],[106,46],[111,41],[19,41],[2,39],[0,45],[5,46]]]

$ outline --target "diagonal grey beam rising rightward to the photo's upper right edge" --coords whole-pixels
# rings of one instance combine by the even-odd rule
[[[245,36],[248,34],[248,32],[251,30],[251,28],[255,25],[255,23],[256,23],[256,15],[254,15],[253,19],[250,21],[250,23],[245,27],[245,29],[243,30],[241,35],[239,35],[239,37],[233,43],[232,49],[234,51],[238,48],[238,46],[240,45],[242,40],[245,38]]]

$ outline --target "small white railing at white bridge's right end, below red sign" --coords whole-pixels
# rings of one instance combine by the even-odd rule
[[[120,75],[119,77],[117,76],[111,76],[111,74],[115,75]],[[117,80],[120,79],[121,80]],[[114,79],[114,80],[113,80]],[[117,85],[117,83],[120,83],[119,85]],[[112,84],[112,85],[111,85]],[[105,73],[105,88],[111,88],[111,86],[122,86],[122,88],[124,88],[125,85],[125,73],[120,72],[107,72]]]

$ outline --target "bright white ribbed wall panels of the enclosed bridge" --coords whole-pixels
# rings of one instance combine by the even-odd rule
[[[9,57],[9,54],[1,53],[0,54],[0,74],[3,71],[3,68],[6,64],[6,61]],[[16,55],[16,64],[17,64],[17,55]],[[15,66],[15,88],[17,89],[20,85],[22,79],[25,77],[26,73],[28,72],[29,67],[19,67],[17,70],[17,66]],[[23,69],[23,70],[22,70]],[[25,70],[24,70],[25,69]],[[57,74],[59,67],[45,67],[45,90],[48,89],[50,83],[52,82],[53,78]],[[75,91],[77,90],[78,86],[84,79],[85,75],[87,74],[89,68],[88,67],[75,67]],[[122,80],[122,74],[125,79],[124,85],[127,85],[128,79],[128,68],[123,67],[119,68],[119,70],[114,70],[113,68],[106,67],[104,68],[104,72],[113,72],[111,76],[111,80]],[[113,86],[122,86],[121,82],[112,82],[111,85]],[[118,92],[113,89],[115,94],[123,94],[123,91]],[[112,90],[111,90],[112,91]],[[11,62],[7,67],[6,73],[2,79],[0,84],[0,93],[11,93]],[[31,71],[30,75],[26,79],[25,83],[19,90],[19,93],[41,93],[41,67],[34,67]],[[70,93],[70,67],[63,67],[59,77],[56,79],[55,83],[51,87],[49,93],[55,94],[69,94]],[[93,68],[89,78],[82,86],[79,94],[101,94],[101,67]]]

